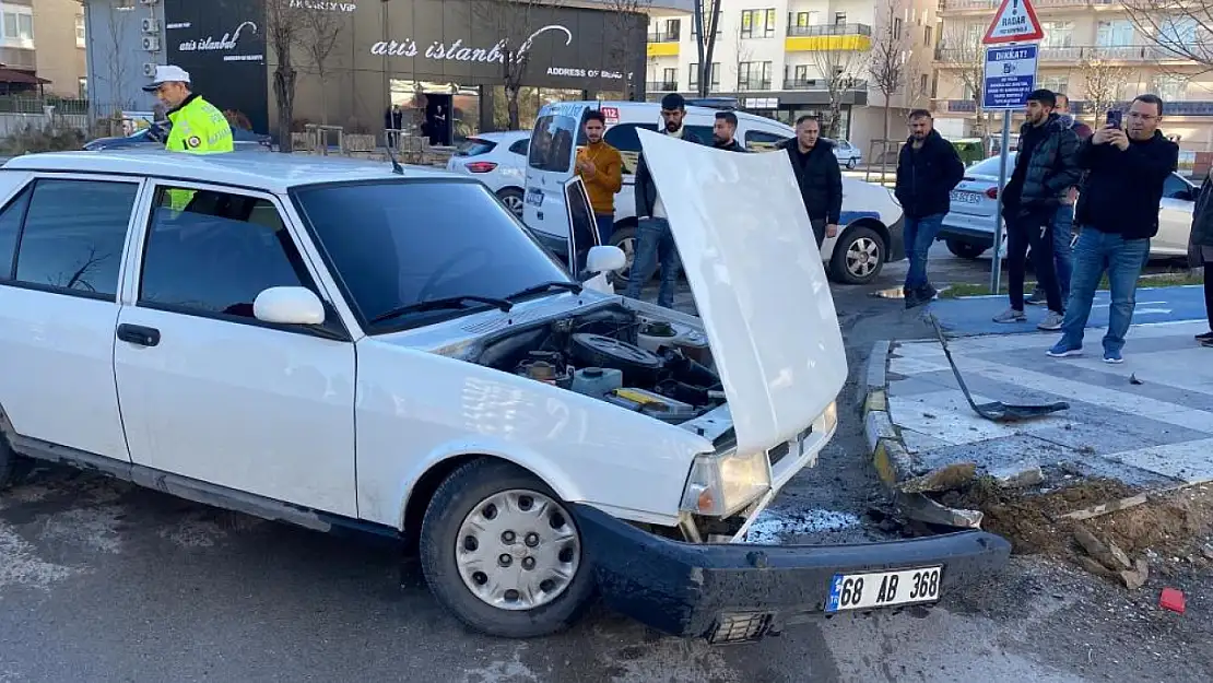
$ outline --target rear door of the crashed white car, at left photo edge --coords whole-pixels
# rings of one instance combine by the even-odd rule
[[[114,326],[142,182],[5,172],[0,183],[10,195],[0,210],[0,406],[21,436],[126,462]]]

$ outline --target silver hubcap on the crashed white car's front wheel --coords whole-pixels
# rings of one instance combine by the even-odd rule
[[[494,494],[463,518],[455,564],[485,604],[526,610],[558,598],[581,564],[581,537],[554,500],[523,489]]]

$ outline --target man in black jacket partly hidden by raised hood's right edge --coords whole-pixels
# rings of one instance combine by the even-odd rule
[[[833,143],[821,140],[821,124],[805,114],[796,120],[796,138],[781,142],[780,147],[787,150],[792,161],[796,184],[801,188],[818,249],[821,249],[826,238],[838,237],[842,214],[842,171]]]

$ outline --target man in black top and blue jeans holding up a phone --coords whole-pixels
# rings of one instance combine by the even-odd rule
[[[1082,143],[1078,164],[1088,171],[1084,200],[1076,217],[1082,226],[1074,247],[1070,308],[1054,358],[1082,353],[1082,337],[1095,288],[1104,273],[1111,289],[1104,363],[1123,363],[1121,349],[1133,321],[1134,294],[1150,239],[1158,234],[1158,203],[1167,177],[1179,166],[1179,146],[1158,130],[1162,99],[1139,95],[1124,116],[1128,130],[1105,125]]]

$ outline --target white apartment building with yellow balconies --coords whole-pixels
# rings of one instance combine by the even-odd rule
[[[833,101],[838,137],[867,155],[870,141],[884,135],[884,95],[873,78],[887,73],[875,66],[882,57],[894,55],[904,74],[888,103],[889,137],[905,137],[907,109],[927,103],[936,5],[938,0],[721,0],[710,92],[735,97],[748,112],[787,123],[802,114],[828,119]],[[688,16],[650,21],[649,99],[666,92],[697,93],[693,33]]]

